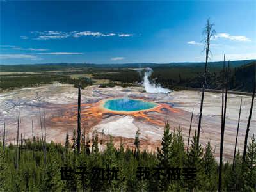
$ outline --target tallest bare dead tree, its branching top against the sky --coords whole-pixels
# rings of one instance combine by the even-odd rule
[[[207,20],[207,24],[203,31],[205,35],[205,67],[204,67],[204,82],[203,82],[203,90],[202,90],[202,98],[200,103],[200,113],[199,113],[199,120],[198,120],[198,130],[197,130],[197,143],[199,145],[199,138],[200,138],[200,129],[201,129],[201,121],[202,121],[202,113],[203,113],[203,104],[204,104],[204,92],[205,92],[205,85],[206,85],[206,73],[207,73],[207,64],[209,59],[209,51],[210,51],[210,41],[212,36],[214,36],[215,31],[212,29],[214,24],[210,23],[210,20]]]

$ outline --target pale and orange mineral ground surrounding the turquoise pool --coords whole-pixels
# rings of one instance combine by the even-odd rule
[[[167,118],[172,131],[180,126],[184,135],[185,145],[188,142],[191,111],[195,110],[192,129],[197,129],[200,108],[200,92],[179,91],[170,94],[145,93],[141,87],[132,88],[98,88],[90,86],[82,90],[82,128],[92,137],[93,132],[99,133],[102,143],[107,135],[114,137],[116,146],[122,138],[127,147],[133,147],[133,138],[140,129],[141,148],[156,150],[163,136],[164,120]],[[103,99],[112,97],[132,97],[149,100],[159,104],[159,108],[131,114],[111,113],[100,107]],[[228,160],[234,153],[236,139],[239,102],[243,98],[241,126],[238,147],[243,150],[244,134],[250,96],[228,95],[227,120],[225,127],[224,154]],[[0,93],[0,136],[3,136],[3,123],[6,122],[7,140],[13,142],[17,133],[18,108],[21,114],[20,133],[24,138],[31,138],[31,121],[35,127],[35,135],[41,136],[39,109],[45,114],[47,141],[54,140],[64,143],[65,134],[70,138],[76,129],[77,88],[68,84],[51,84],[37,88],[22,88]],[[43,119],[44,124],[44,119]],[[219,154],[221,124],[221,93],[205,93],[200,141],[206,145],[211,141],[216,158]],[[250,136],[256,133],[256,108],[253,109]],[[104,148],[102,145],[101,148]]]

